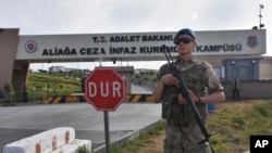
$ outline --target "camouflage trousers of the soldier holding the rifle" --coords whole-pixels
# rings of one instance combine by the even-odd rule
[[[199,142],[205,138],[198,124],[182,126],[182,129],[194,142]],[[208,142],[202,144],[191,143],[172,122],[168,122],[164,153],[211,153],[211,151]]]

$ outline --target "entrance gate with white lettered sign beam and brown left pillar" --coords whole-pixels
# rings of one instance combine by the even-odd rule
[[[24,35],[18,28],[0,30],[0,89],[10,80],[16,95],[27,85],[30,63],[103,61],[165,61],[164,48],[176,54],[175,31],[78,35]],[[196,31],[194,52],[224,74],[224,58],[267,52],[265,29]]]

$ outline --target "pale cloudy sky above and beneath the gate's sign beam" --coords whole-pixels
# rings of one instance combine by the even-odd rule
[[[0,27],[20,28],[20,35],[111,34],[267,29],[267,55],[272,55],[272,0],[0,0]],[[263,9],[260,9],[263,4]],[[158,69],[165,62],[102,62],[103,66]],[[100,63],[39,63],[92,69]]]

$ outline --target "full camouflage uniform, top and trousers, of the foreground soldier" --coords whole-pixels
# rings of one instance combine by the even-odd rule
[[[223,91],[212,66],[203,61],[198,61],[194,56],[188,62],[177,60],[175,62],[182,77],[184,78],[189,90],[195,95]],[[173,69],[169,64],[162,65],[159,72],[159,78],[163,75],[172,74]],[[203,135],[195,120],[194,113],[189,104],[181,105],[177,103],[178,89],[175,86],[166,86],[162,97],[162,118],[166,119],[166,138],[164,142],[165,153],[209,153],[209,144],[196,144],[188,141],[180,131],[178,127],[187,133],[194,141],[203,140]],[[207,104],[196,103],[196,106],[205,120],[207,117]]]

